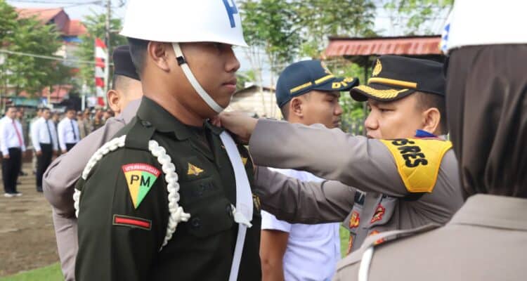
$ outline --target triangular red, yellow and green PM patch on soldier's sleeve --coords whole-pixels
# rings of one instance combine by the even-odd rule
[[[122,171],[126,178],[126,184],[128,185],[134,208],[137,209],[161,172],[154,166],[144,163],[123,165]]]

